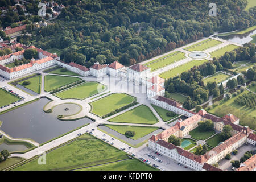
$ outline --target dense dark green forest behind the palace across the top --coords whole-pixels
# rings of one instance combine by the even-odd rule
[[[223,1],[56,1],[66,7],[56,23],[20,37],[42,49],[63,50],[61,59],[90,66],[96,61],[139,63],[214,32],[255,24],[255,11],[243,11],[246,0]],[[208,15],[216,3],[217,17]]]

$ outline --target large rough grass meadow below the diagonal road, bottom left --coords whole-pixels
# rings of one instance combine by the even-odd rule
[[[85,134],[86,135],[86,134]],[[70,170],[128,159],[123,151],[98,139],[77,139],[46,154],[46,164],[31,160],[15,171]]]

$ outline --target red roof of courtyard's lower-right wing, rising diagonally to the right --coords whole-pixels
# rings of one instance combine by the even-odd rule
[[[237,133],[233,137],[230,137],[229,139],[225,140],[224,143],[216,146],[215,148],[204,154],[205,158],[209,160],[210,158],[212,158],[213,155],[219,154],[220,152],[224,151],[226,148],[232,146],[234,143],[238,142],[239,140],[246,136],[247,135],[242,131],[240,133]]]

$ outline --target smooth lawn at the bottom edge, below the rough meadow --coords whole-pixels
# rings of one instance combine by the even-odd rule
[[[139,160],[123,160],[119,162],[103,164],[101,166],[94,166],[79,169],[79,171],[155,171],[154,169],[147,164],[140,162]]]

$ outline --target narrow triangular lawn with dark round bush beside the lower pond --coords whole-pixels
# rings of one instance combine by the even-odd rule
[[[127,125],[105,125],[105,126],[123,135],[125,135],[126,131],[134,131],[135,135],[133,137],[130,137],[131,139],[134,139],[134,140],[142,138],[145,135],[150,134],[153,131],[159,129],[158,127],[146,127],[146,126],[127,126]]]

